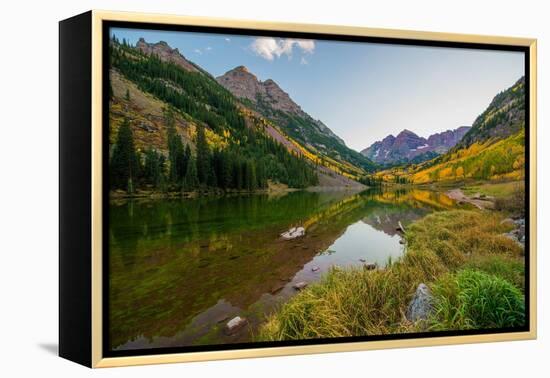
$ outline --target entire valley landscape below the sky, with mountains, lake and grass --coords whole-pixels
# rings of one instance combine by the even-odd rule
[[[359,152],[244,65],[115,35],[109,54],[113,350],[525,323],[523,77],[471,126]]]

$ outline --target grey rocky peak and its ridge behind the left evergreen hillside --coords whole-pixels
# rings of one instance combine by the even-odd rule
[[[216,79],[243,104],[280,126],[289,137],[328,164],[339,165],[349,176],[372,171],[375,165],[348,148],[324,123],[304,112],[277,83],[260,81],[246,67],[236,67]]]

